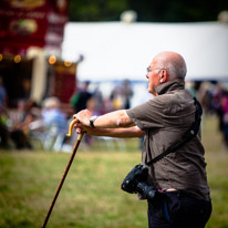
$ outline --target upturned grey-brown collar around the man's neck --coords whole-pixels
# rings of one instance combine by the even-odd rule
[[[162,95],[170,91],[184,90],[184,89],[185,89],[185,81],[180,79],[176,79],[174,81],[165,82],[156,86],[155,91],[157,92],[158,95]]]

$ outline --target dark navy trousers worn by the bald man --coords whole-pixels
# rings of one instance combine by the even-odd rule
[[[166,191],[148,203],[149,228],[204,228],[211,214],[211,203],[187,196],[182,191]]]

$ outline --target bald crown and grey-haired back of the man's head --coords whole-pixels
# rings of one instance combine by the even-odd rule
[[[160,52],[154,60],[155,68],[165,69],[169,80],[183,79],[185,80],[187,68],[184,58],[176,52]]]

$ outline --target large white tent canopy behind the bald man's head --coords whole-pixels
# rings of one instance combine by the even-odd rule
[[[228,24],[197,23],[68,23],[62,58],[79,64],[81,81],[146,80],[146,68],[162,51],[180,53],[187,80],[228,80]]]

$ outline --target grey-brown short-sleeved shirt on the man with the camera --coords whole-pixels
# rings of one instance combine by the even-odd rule
[[[127,110],[127,115],[146,133],[142,163],[149,162],[179,142],[195,121],[194,100],[185,90],[183,80],[166,82],[156,91],[158,96]],[[204,154],[198,133],[182,148],[151,165],[148,182],[158,189],[176,188],[210,200]]]

